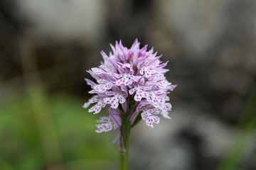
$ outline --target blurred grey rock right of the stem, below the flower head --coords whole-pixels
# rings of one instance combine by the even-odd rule
[[[134,128],[131,169],[217,168],[220,157],[236,137],[235,129],[195,107],[184,106],[174,111],[171,121],[161,118],[161,125],[154,125],[153,129],[143,121]]]

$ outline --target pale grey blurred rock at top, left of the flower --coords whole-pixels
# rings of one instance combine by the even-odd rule
[[[31,23],[39,40],[80,40],[97,43],[103,38],[105,1],[16,1],[18,14]],[[102,34],[103,33],[103,34]]]

